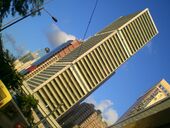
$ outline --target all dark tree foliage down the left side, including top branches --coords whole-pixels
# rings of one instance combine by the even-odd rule
[[[24,16],[29,12],[39,9],[44,0],[0,0],[0,29],[5,17],[15,14]],[[39,14],[39,12],[38,12]],[[35,14],[34,14],[35,15]],[[0,32],[0,79],[8,89],[17,90],[19,107],[30,124],[33,123],[31,108],[35,108],[38,101],[31,95],[25,95],[21,91],[22,76],[15,70],[13,62],[15,58],[8,50],[3,48],[2,33]]]

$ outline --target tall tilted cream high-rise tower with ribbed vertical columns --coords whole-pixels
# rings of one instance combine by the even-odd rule
[[[80,47],[23,83],[38,100],[38,109],[52,125],[106,81],[147,44],[157,28],[148,9],[120,17]]]

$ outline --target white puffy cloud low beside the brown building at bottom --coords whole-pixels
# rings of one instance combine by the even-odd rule
[[[102,112],[102,116],[108,125],[112,125],[118,119],[118,113],[113,108],[113,102],[109,99],[102,100],[99,103],[93,97],[88,97],[85,102],[92,103],[95,108]]]

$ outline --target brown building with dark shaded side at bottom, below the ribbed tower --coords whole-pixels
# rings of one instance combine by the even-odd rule
[[[57,120],[62,128],[106,128],[101,112],[93,104],[78,104]]]

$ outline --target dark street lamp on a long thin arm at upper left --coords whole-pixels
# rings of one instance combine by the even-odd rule
[[[52,18],[52,20],[53,20],[54,22],[57,22],[57,21],[58,21],[58,20],[57,20],[54,16],[52,16],[44,7],[41,7],[41,8],[39,8],[39,9],[37,9],[37,10],[34,10],[34,11],[26,14],[25,16],[21,17],[20,19],[17,19],[17,20],[15,20],[15,21],[13,21],[13,22],[10,23],[10,24],[7,23],[7,25],[6,25],[5,27],[0,28],[0,32],[2,32],[3,30],[5,30],[6,28],[8,28],[8,27],[10,27],[10,26],[18,23],[19,21],[22,21],[23,19],[31,16],[32,14],[41,11],[42,9],[44,9],[44,11]]]

